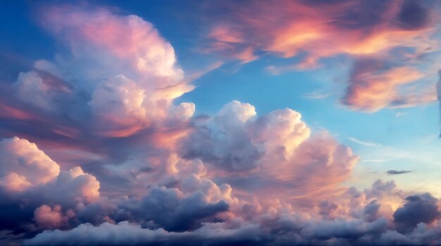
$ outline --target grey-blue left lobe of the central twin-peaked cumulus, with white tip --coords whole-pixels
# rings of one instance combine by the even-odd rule
[[[228,103],[210,120],[213,129],[198,127],[183,141],[182,156],[201,158],[204,162],[231,171],[253,169],[262,154],[259,147],[252,143],[244,123],[255,115],[256,111],[249,103]]]

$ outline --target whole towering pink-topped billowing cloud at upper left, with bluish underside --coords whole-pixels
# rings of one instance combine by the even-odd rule
[[[14,100],[56,122],[68,115],[75,125],[111,137],[192,117],[192,103],[173,105],[173,100],[194,86],[154,26],[136,15],[89,7],[60,5],[41,11],[40,24],[63,50],[54,60],[37,60],[32,71],[18,75],[12,85]]]

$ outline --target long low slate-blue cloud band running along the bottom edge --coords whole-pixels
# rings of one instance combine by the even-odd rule
[[[365,238],[371,243],[378,240],[378,235],[387,231],[387,220],[321,221],[306,223],[300,230],[284,228],[272,233],[259,224],[231,228],[218,223],[175,233],[122,221],[116,225],[82,224],[70,231],[44,231],[24,245],[362,245]]]

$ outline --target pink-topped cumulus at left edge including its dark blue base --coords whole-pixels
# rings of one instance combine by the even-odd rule
[[[40,228],[66,227],[78,204],[100,198],[94,176],[80,167],[60,171],[35,143],[6,138],[0,142],[0,153],[1,229],[26,228],[32,218]],[[66,207],[64,213],[61,207]]]

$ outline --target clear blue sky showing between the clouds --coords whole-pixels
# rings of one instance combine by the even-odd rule
[[[37,8],[53,1],[0,1],[0,79],[13,80],[33,61],[51,59],[61,46],[35,21]],[[198,52],[206,31],[198,16],[201,1],[92,1],[92,4],[117,6],[120,13],[135,14],[152,22],[175,48],[178,63],[188,73],[204,70],[219,59]],[[383,178],[388,169],[411,169],[416,172],[392,178],[402,183],[436,181],[440,174],[438,160],[441,147],[437,134],[440,127],[437,105],[407,109],[385,109],[366,113],[349,110],[339,103],[346,86],[349,63],[344,58],[327,59],[323,67],[312,71],[293,71],[274,76],[268,65],[291,65],[297,58],[263,56],[254,62],[238,65],[225,63],[194,81],[197,88],[177,102],[191,101],[198,114],[217,112],[232,100],[251,103],[259,114],[278,108],[301,112],[314,131],[326,129],[340,143],[349,145],[362,160],[354,179],[366,185]],[[337,64],[337,65],[336,65]],[[327,94],[327,98],[305,98],[309,93]],[[404,113],[397,117],[397,113]],[[375,143],[362,145],[349,140]],[[391,160],[389,160],[391,159]],[[352,180],[349,183],[356,183]]]

